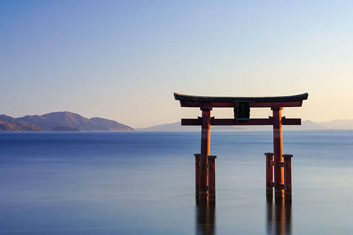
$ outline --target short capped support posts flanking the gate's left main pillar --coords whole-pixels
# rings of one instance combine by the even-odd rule
[[[197,200],[208,200],[210,203],[216,202],[216,158],[217,156],[208,155],[207,162],[204,164],[204,169],[207,171],[207,184],[204,188],[207,191],[207,198],[200,197],[200,174],[201,174],[201,154],[196,153],[195,156],[195,196]]]

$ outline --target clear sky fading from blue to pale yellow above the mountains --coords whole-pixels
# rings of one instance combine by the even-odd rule
[[[201,116],[174,92],[308,93],[282,116],[353,119],[352,12],[339,0],[0,0],[0,114],[69,111],[139,128]]]

